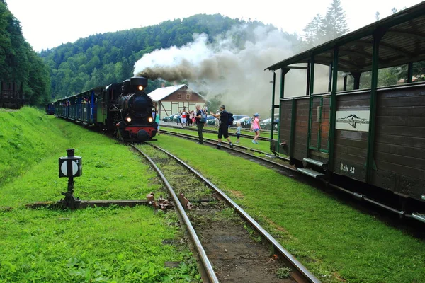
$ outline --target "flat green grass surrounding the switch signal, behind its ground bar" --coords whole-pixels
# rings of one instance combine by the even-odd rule
[[[147,193],[159,188],[159,183],[150,181],[154,171],[141,163],[127,146],[64,120],[50,119],[50,125],[60,130],[56,136],[49,137],[57,141],[58,149],[47,156],[40,154],[37,162],[31,160],[34,165],[28,166],[30,171],[25,178],[16,178],[2,186],[0,206],[58,200],[60,192],[67,190],[68,182],[67,178],[58,178],[58,158],[66,156],[68,147],[75,148],[75,155],[83,158],[83,175],[74,178],[74,195],[81,199],[145,199]],[[27,150],[23,146],[23,151]]]

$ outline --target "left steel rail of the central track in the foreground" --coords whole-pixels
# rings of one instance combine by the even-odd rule
[[[181,205],[181,203],[179,201],[179,197],[177,197],[176,193],[174,192],[173,187],[171,187],[169,181],[166,180],[162,171],[158,168],[158,166],[154,163],[154,161],[149,156],[147,156],[147,154],[145,154],[145,152],[138,149],[134,144],[130,144],[130,146],[132,146],[133,149],[137,150],[138,152],[140,152],[140,154],[145,156],[147,161],[149,161],[149,163],[151,163],[151,165],[155,169],[155,171],[157,171],[159,177],[164,182],[164,185],[169,190],[171,197],[173,197],[174,204],[176,205],[176,208],[177,208],[179,214],[181,215],[181,218],[183,219],[184,224],[186,225],[186,227],[188,229],[188,233],[191,236],[191,239],[192,239],[192,241],[195,245],[195,248],[196,248],[196,251],[198,252],[200,261],[203,263],[203,268],[205,270],[205,273],[208,276],[208,279],[210,279],[210,282],[212,282],[212,283],[218,283],[219,281],[217,279],[217,276],[215,275],[214,270],[212,269],[211,262],[208,259],[208,256],[205,253],[205,250],[203,249],[202,243],[200,243],[200,240],[198,238],[198,235],[196,234],[195,229],[193,229],[193,226],[191,224],[191,220],[188,218],[186,212],[184,211],[183,206]]]

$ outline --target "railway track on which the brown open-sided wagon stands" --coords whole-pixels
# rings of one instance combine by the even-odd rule
[[[191,136],[189,134],[182,134],[182,133],[169,132],[169,131],[162,131],[162,132],[165,132],[166,134],[171,134],[175,137],[181,137],[181,138],[184,138],[184,139],[191,139],[191,140],[194,140],[194,141],[195,140],[198,141],[198,137],[194,137],[194,136]],[[210,146],[217,146],[217,143],[215,141],[213,142],[212,139],[204,139],[204,143],[209,144]],[[226,143],[225,141],[222,141],[222,144],[228,145],[228,143]],[[266,152],[258,151],[256,149],[246,148],[244,146],[237,146],[236,144],[234,144],[233,146],[234,146],[233,149],[230,148],[230,147],[227,147],[227,146],[222,146],[222,149],[224,149],[226,151],[231,151],[235,154],[242,154],[252,161],[261,161],[263,163],[268,164],[272,168],[277,168],[277,169],[280,169],[283,172],[290,174],[290,176],[298,175],[298,176],[305,177],[304,174],[297,171],[297,168],[295,168],[294,166],[290,166],[288,164],[289,158],[285,158],[285,157],[281,157],[281,156],[279,156],[278,158],[261,157],[261,156],[255,155],[255,154],[251,154],[251,153],[249,153],[249,151],[254,151],[254,152],[259,153],[259,154],[266,154]],[[238,147],[239,147],[239,149],[238,149]],[[244,149],[244,150],[240,150],[240,149]],[[368,204],[372,204],[375,207],[380,207],[381,209],[385,209],[386,211],[391,212],[392,214],[397,214],[400,219],[402,219],[402,218],[412,219],[413,218],[415,220],[418,220],[415,217],[416,214],[409,214],[409,213],[405,212],[404,210],[395,209],[394,207],[391,207],[390,205],[387,205],[383,202],[373,200],[373,198],[370,198],[367,195],[363,195],[363,194],[358,193],[358,192],[353,191],[353,190],[348,190],[344,187],[341,187],[340,185],[329,183],[329,182],[327,182],[327,180],[323,180],[323,181],[326,183],[326,185],[328,187],[331,187],[332,189],[338,190],[339,192],[344,192],[345,194],[350,195],[351,197],[354,197],[356,200],[360,200],[361,202],[366,202]],[[421,221],[421,220],[419,219],[418,221]]]

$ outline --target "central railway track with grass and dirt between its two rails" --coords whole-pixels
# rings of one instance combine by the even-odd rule
[[[130,144],[147,158],[169,190],[200,259],[204,282],[319,282],[210,180],[168,151],[149,145],[152,147]],[[180,202],[176,187],[179,195],[183,192],[188,200],[201,201],[185,210],[184,207],[191,205],[186,200]],[[244,228],[246,223],[256,231],[257,241]],[[273,246],[275,255],[271,255],[269,247],[258,241],[259,238]],[[290,277],[278,278],[276,272],[286,267],[291,270]]]

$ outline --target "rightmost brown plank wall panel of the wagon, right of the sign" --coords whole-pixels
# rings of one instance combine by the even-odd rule
[[[425,195],[425,85],[378,91],[373,185]]]

